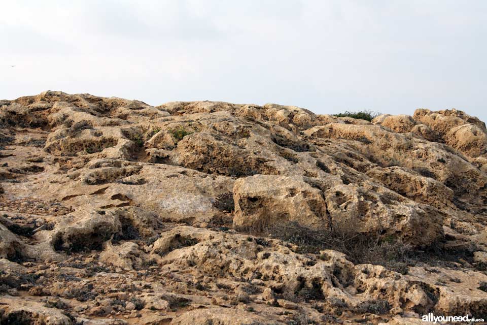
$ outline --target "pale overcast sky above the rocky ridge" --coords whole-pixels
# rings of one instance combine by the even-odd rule
[[[0,99],[50,89],[487,120],[483,0],[0,0],[0,12]]]

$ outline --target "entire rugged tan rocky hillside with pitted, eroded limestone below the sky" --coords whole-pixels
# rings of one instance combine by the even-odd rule
[[[266,104],[0,101],[2,324],[487,317],[487,131]]]

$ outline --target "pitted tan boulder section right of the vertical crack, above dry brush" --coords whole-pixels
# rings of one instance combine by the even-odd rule
[[[338,185],[325,192],[330,220],[351,235],[394,238],[427,246],[443,237],[442,215],[397,193],[372,184]]]

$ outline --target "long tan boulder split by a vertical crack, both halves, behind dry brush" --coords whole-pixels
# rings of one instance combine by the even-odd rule
[[[294,221],[315,229],[335,227],[351,236],[393,236],[419,246],[443,234],[436,209],[373,184],[326,189],[305,177],[256,175],[235,182],[233,199],[237,228],[262,230]]]

